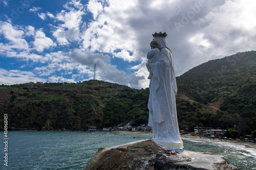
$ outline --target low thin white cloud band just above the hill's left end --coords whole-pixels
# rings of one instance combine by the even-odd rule
[[[1,84],[10,85],[27,82],[45,82],[45,80],[38,78],[33,72],[0,68],[0,82],[4,82]]]

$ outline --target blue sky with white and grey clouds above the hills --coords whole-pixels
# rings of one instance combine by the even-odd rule
[[[166,32],[176,76],[256,50],[256,1],[0,0],[0,84],[94,78],[146,88],[146,54]]]

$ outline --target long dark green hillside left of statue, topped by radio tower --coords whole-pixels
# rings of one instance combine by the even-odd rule
[[[148,94],[148,89],[97,80],[2,85],[0,109],[8,113],[11,129],[86,130],[130,120],[138,125],[147,123]]]

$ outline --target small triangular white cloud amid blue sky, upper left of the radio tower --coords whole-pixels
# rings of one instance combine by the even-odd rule
[[[46,34],[41,30],[36,31],[35,33],[35,41],[33,42],[35,50],[38,52],[44,51],[44,49],[49,48],[50,46],[55,46],[56,44],[53,43],[52,39],[46,37]]]

